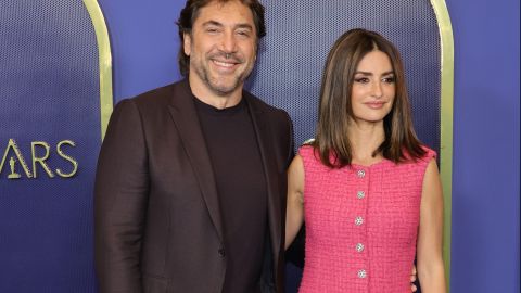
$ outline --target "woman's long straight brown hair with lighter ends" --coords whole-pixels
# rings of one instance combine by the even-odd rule
[[[385,139],[373,151],[373,156],[382,154],[390,161],[401,163],[416,161],[425,154],[412,127],[404,65],[398,50],[381,35],[356,28],[344,33],[334,42],[322,73],[318,125],[312,145],[328,167],[341,168],[352,163],[353,153],[347,137],[350,119],[353,118],[351,92],[360,60],[373,50],[390,58],[396,86],[393,107],[383,119]]]

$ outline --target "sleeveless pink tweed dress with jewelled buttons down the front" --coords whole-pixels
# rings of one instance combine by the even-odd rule
[[[301,293],[408,293],[420,221],[419,161],[330,169],[313,148],[304,162],[305,263]]]

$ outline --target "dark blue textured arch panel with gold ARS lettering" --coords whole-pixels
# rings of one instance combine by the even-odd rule
[[[2,293],[96,292],[98,65],[81,1],[0,1]]]

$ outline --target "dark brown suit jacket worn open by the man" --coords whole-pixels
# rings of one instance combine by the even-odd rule
[[[188,81],[118,103],[96,176],[100,293],[220,293],[226,247],[208,152]],[[267,181],[269,232],[262,292],[283,291],[288,114],[243,92]]]

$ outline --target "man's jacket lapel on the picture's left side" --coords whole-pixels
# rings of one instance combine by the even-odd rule
[[[193,104],[193,97],[188,81],[180,82],[174,88],[170,99],[170,116],[179,131],[185,151],[195,173],[201,193],[208,208],[212,221],[220,240],[224,242],[223,219],[220,215],[217,184],[215,182],[212,162],[201,125]]]

